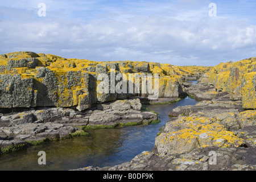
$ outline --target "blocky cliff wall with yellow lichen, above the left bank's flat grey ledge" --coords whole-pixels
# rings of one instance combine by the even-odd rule
[[[126,99],[131,95],[183,97],[185,93],[182,80],[186,77],[198,77],[208,69],[209,67],[176,67],[145,61],[96,62],[65,59],[34,52],[6,53],[0,56],[0,108],[55,106],[76,107],[81,111],[94,107],[98,102]],[[122,76],[128,79],[130,73],[137,73],[140,78],[127,81],[127,89],[125,85],[117,85]],[[110,87],[107,88],[108,93],[99,92],[98,86],[105,79],[101,74],[107,76],[105,83]],[[155,74],[159,75],[159,92],[142,92],[142,86],[139,85],[139,93],[131,89],[134,92],[129,94],[129,84],[135,88],[135,80],[139,79],[139,84],[142,84],[141,77],[148,74],[153,77]],[[112,83],[119,86],[122,92],[112,92],[111,89],[115,89],[111,88]]]

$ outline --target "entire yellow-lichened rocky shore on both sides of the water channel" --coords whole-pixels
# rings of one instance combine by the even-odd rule
[[[88,135],[88,129],[159,122],[142,104],[170,104],[188,95],[200,102],[170,110],[152,151],[114,167],[75,170],[255,170],[255,68],[255,57],[215,67],[178,67],[34,52],[0,55],[0,154]],[[129,74],[138,77],[118,80]],[[142,91],[142,79],[152,74],[159,76],[158,87],[154,82],[146,93],[128,92],[127,85]],[[197,79],[192,86],[184,82]],[[102,86],[110,92],[119,86],[122,92],[99,92]],[[158,100],[147,99],[152,89]]]

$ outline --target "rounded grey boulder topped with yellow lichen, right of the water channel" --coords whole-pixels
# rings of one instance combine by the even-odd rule
[[[199,147],[239,147],[243,144],[243,139],[207,117],[180,117],[170,121],[155,142],[160,154],[181,154]]]

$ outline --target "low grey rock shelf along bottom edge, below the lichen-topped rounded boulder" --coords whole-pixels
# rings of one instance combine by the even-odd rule
[[[254,156],[255,150],[250,148],[205,147],[174,155],[143,151],[117,166],[89,166],[74,171],[254,171]]]

